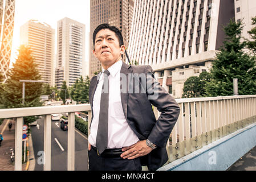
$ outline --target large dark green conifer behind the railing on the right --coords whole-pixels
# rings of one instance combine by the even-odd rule
[[[255,60],[244,51],[242,28],[242,23],[234,19],[224,27],[224,46],[213,61],[210,82],[206,83],[208,97],[233,95],[233,78],[238,78],[239,95],[256,93]]]

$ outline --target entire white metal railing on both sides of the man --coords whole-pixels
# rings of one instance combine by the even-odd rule
[[[180,106],[178,121],[168,142],[169,162],[256,122],[256,95],[176,99]],[[22,169],[23,117],[44,115],[44,170],[51,170],[51,114],[68,113],[68,170],[75,169],[75,111],[88,111],[91,106],[66,105],[0,109],[0,118],[17,118],[15,125],[15,170]],[[154,109],[156,117],[159,112]],[[88,129],[88,133],[90,130]]]

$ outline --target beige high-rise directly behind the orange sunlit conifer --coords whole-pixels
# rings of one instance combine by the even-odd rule
[[[38,20],[29,20],[21,26],[21,44],[29,46],[41,80],[54,86],[54,38],[55,30]]]

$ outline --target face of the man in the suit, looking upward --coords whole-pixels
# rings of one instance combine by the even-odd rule
[[[125,46],[120,47],[119,40],[115,32],[109,29],[102,29],[97,32],[95,37],[94,56],[100,60],[104,69],[108,69],[121,60],[121,55],[124,54]]]

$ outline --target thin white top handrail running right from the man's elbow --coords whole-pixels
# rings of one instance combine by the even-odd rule
[[[185,103],[185,102],[217,101],[217,100],[228,100],[228,99],[234,99],[234,98],[253,98],[253,97],[256,97],[256,95],[176,98],[175,100],[177,103]]]

